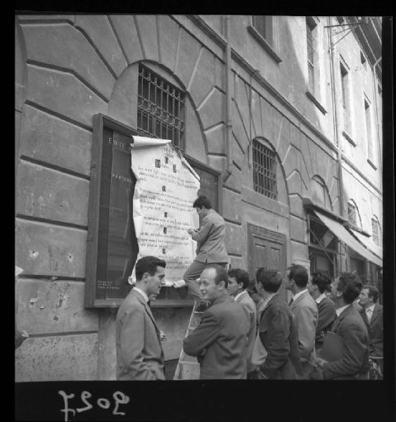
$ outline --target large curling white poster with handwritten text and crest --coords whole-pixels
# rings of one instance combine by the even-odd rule
[[[170,142],[134,136],[131,151],[138,260],[146,255],[165,260],[166,286],[179,284],[193,262],[196,242],[187,229],[199,225],[192,206],[200,188],[198,174]]]

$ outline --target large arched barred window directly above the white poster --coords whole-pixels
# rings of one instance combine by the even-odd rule
[[[137,129],[142,136],[172,139],[185,149],[186,95],[146,66],[139,65]]]

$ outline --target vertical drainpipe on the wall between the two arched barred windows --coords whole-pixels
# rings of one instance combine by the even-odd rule
[[[232,123],[231,123],[231,37],[230,15],[225,15],[226,37],[226,173],[223,183],[231,176],[232,172]]]

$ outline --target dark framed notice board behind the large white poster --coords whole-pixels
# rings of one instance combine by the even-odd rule
[[[113,134],[110,134],[111,131],[113,131]],[[125,278],[121,277],[120,282],[114,284],[113,281],[110,280],[110,277],[108,277],[110,266],[108,266],[107,259],[111,252],[109,252],[110,243],[108,242],[108,238],[106,241],[106,232],[110,232],[110,224],[112,224],[110,215],[111,212],[113,212],[110,210],[114,210],[115,208],[114,201],[116,203],[121,202],[123,204],[121,207],[125,207],[125,203],[127,202],[124,191],[122,191],[122,195],[124,196],[123,200],[117,198],[118,192],[114,193],[112,191],[112,177],[114,177],[115,172],[113,155],[115,154],[116,145],[121,145],[121,150],[124,150],[120,153],[120,148],[117,147],[116,154],[118,154],[119,158],[123,153],[126,154],[122,155],[122,168],[118,167],[118,170],[120,170],[119,173],[123,178],[123,181],[127,181],[126,183],[131,184],[129,201],[130,204],[132,204],[134,183],[136,179],[130,168],[129,162],[127,162],[127,154],[129,154],[130,157],[130,149],[127,146],[129,143],[133,142],[132,136],[134,135],[139,135],[139,133],[125,124],[117,122],[106,115],[98,114],[94,116],[84,294],[84,306],[87,308],[119,307],[131,288]],[[115,139],[116,136],[118,143],[117,139]],[[110,143],[115,143],[115,146],[109,146]],[[129,157],[128,159],[130,160]],[[184,154],[184,157],[190,165],[203,176],[203,186],[201,186],[198,194],[213,196],[213,207],[217,210],[221,201],[221,188],[219,187],[220,172],[198,162],[194,158],[189,157],[189,155]],[[117,180],[117,183],[119,183],[118,187],[120,187],[120,183],[122,182]],[[112,204],[110,204],[110,197],[113,198]],[[129,219],[132,220],[132,207],[128,214]],[[125,224],[122,223],[121,226],[123,228]],[[127,224],[124,231],[132,233],[132,238],[134,238],[134,241],[136,242],[129,242],[128,245],[125,242],[121,242],[118,247],[119,252],[121,250],[121,254],[124,257],[130,253],[129,263],[125,265],[127,271],[124,271],[124,274],[130,274],[136,261],[138,250],[132,221],[129,225]],[[121,236],[118,237],[121,238]],[[130,247],[131,243],[132,248]],[[118,271],[122,272],[120,271],[120,267],[118,268]],[[103,276],[103,274],[105,275]],[[101,285],[101,283],[104,283],[104,285]],[[98,288],[99,285],[101,285],[100,289]],[[162,290],[157,300],[152,302],[152,307],[191,307],[193,305],[193,300],[187,298],[186,287],[178,289],[167,287],[162,288]],[[108,297],[108,293],[110,297]],[[103,295],[105,297],[103,297]]]

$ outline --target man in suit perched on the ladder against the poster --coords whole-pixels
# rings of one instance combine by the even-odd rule
[[[193,207],[198,212],[200,219],[199,229],[189,229],[188,232],[197,242],[196,258],[184,273],[183,279],[189,286],[193,298],[200,302],[197,310],[203,311],[207,307],[198,286],[197,279],[207,264],[219,264],[226,268],[230,262],[224,244],[226,227],[221,215],[212,210],[212,204],[206,196],[198,196]]]

